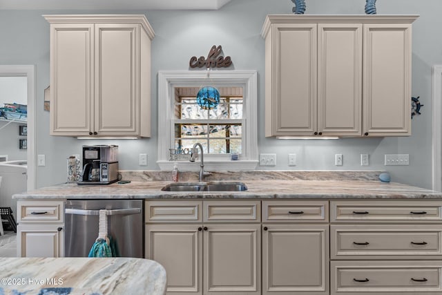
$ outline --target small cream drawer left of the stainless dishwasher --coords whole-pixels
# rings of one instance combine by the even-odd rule
[[[17,222],[64,222],[63,201],[18,201]]]

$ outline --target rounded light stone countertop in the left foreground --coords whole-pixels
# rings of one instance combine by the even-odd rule
[[[166,294],[166,271],[142,258],[0,258],[0,294]]]

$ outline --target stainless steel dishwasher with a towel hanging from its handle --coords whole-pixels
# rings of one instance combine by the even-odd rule
[[[67,200],[64,255],[88,256],[98,237],[100,209],[107,210],[108,237],[117,256],[143,258],[142,200]]]

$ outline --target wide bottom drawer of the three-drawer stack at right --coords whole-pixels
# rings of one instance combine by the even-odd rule
[[[403,295],[442,291],[442,261],[332,261],[330,268],[331,294]]]

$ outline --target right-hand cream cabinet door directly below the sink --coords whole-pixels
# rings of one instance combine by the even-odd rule
[[[261,294],[260,225],[204,227],[204,294]]]

